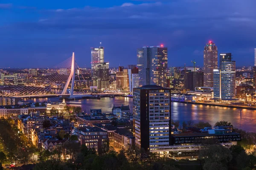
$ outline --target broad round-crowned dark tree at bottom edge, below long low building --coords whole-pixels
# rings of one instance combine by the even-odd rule
[[[232,155],[228,148],[213,144],[200,150],[198,158],[205,162],[204,170],[226,170]]]

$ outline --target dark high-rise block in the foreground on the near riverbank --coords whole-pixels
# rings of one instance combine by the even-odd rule
[[[158,85],[144,85],[133,92],[133,133],[135,144],[145,151],[162,153],[170,145],[171,90]],[[166,151],[168,152],[168,151]]]

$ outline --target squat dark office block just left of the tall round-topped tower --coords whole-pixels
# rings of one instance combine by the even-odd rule
[[[186,71],[184,78],[185,89],[195,91],[195,87],[204,86],[204,72],[202,71]]]

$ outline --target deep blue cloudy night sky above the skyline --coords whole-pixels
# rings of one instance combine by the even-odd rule
[[[110,67],[137,64],[136,49],[164,44],[168,65],[203,65],[204,45],[253,65],[256,0],[0,0],[0,67],[52,67],[105,47]]]

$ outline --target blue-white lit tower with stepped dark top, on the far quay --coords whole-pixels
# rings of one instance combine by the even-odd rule
[[[220,69],[214,70],[213,92],[215,99],[236,98],[236,62],[231,53],[220,54]]]

